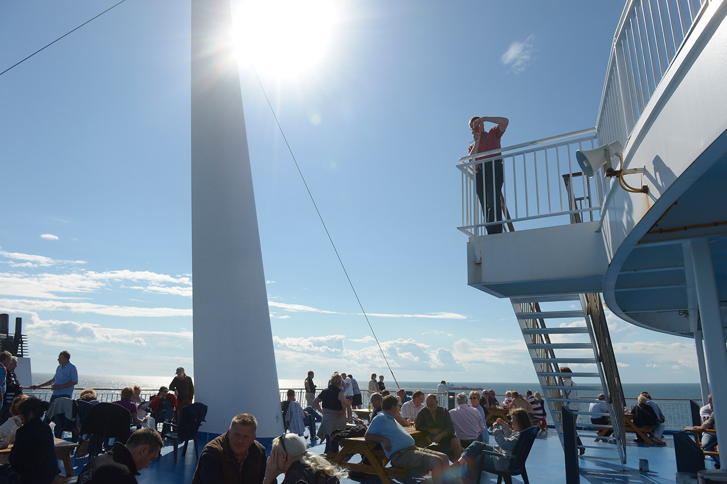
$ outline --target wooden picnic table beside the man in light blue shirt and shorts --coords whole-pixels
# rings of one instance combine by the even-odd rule
[[[422,432],[415,429],[414,427],[405,427],[406,430],[414,440]],[[409,469],[403,467],[386,467],[389,463],[389,459],[384,454],[384,448],[378,442],[366,440],[363,437],[352,437],[341,439],[341,450],[334,456],[334,464],[338,464],[341,467],[346,467],[354,472],[362,472],[364,474],[371,474],[379,476],[379,479],[384,484],[392,484],[390,477],[406,477],[409,474]],[[361,454],[366,456],[368,464],[353,464],[347,462],[351,456]]]

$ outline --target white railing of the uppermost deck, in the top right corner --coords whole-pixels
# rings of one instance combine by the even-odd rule
[[[596,133],[625,147],[709,0],[630,0],[614,35]]]

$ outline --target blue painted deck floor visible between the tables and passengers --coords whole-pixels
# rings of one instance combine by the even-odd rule
[[[619,462],[605,461],[598,459],[579,459],[580,462],[580,482],[590,484],[627,484],[627,483],[643,483],[643,484],[662,484],[675,483],[676,462],[674,456],[674,444],[669,435],[664,435],[667,446],[646,446],[643,443],[632,442],[632,434],[627,434],[629,443],[627,446],[627,465],[623,470]],[[586,445],[598,445],[583,439]],[[199,442],[199,449],[204,447],[204,443]],[[310,451],[322,452],[324,446],[315,446]],[[587,449],[587,454],[595,454],[598,449]],[[639,459],[648,459],[649,472],[640,472],[638,469]],[[356,462],[352,459],[351,462]],[[86,459],[76,459],[76,473],[80,471]],[[166,445],[162,450],[161,459],[152,462],[148,469],[143,469],[138,481],[142,484],[151,483],[190,483],[196,469],[196,459],[194,456],[193,443],[190,442],[187,455],[180,456],[177,463],[174,463],[172,456],[172,446]],[[711,469],[712,461],[707,459],[707,468]],[[547,433],[541,433],[528,457],[527,463],[528,476],[532,484],[557,483],[562,484],[566,481],[565,467],[563,464],[563,448],[558,440],[558,435],[554,430]],[[489,480],[483,480],[483,483],[496,483],[497,477],[488,475]],[[283,480],[283,476],[278,477],[278,482]],[[430,479],[419,480],[420,482],[431,482]],[[522,482],[520,477],[513,477],[513,481]],[[345,483],[377,483],[377,477],[355,477],[344,481]],[[396,481],[395,481],[396,482]]]

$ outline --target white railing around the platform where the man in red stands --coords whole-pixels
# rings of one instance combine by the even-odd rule
[[[459,230],[478,236],[485,234],[486,226],[503,222],[506,226],[519,223],[519,229],[528,229],[542,226],[536,219],[544,217],[560,216],[550,221],[550,225],[598,220],[603,200],[603,173],[599,171],[593,179],[587,179],[582,176],[575,157],[576,150],[595,147],[595,128],[590,128],[459,158],[457,168],[462,172]],[[474,168],[483,161],[474,160],[499,152],[502,155],[498,158],[483,161],[502,159],[504,220],[487,222],[478,200]],[[487,163],[483,169],[494,170],[494,164]],[[485,186],[484,191],[495,193],[494,176],[489,178],[493,185]]]

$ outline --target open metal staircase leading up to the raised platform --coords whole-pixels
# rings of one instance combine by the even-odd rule
[[[612,459],[626,464],[625,402],[601,295],[591,293],[512,298],[510,302],[513,303],[540,387],[547,393],[545,401],[561,443],[563,403],[579,403],[578,414],[586,417],[585,420],[579,419],[578,430],[582,447],[585,448],[584,457]],[[544,311],[544,305],[553,305],[555,308]],[[573,373],[569,376],[576,380],[575,387],[563,386],[561,366],[573,367]],[[566,394],[562,393],[564,388],[577,390],[581,398],[565,398]],[[606,395],[607,414],[588,411],[590,403],[598,402],[598,393]],[[584,394],[593,396],[583,398]],[[593,440],[597,435],[590,418],[606,415],[611,419],[614,433],[608,438],[602,438],[601,443],[595,443]]]

